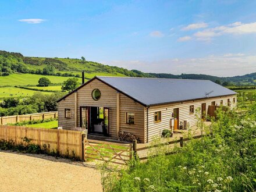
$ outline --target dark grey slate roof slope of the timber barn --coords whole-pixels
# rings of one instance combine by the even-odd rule
[[[147,106],[236,94],[210,80],[102,76],[97,79]]]

